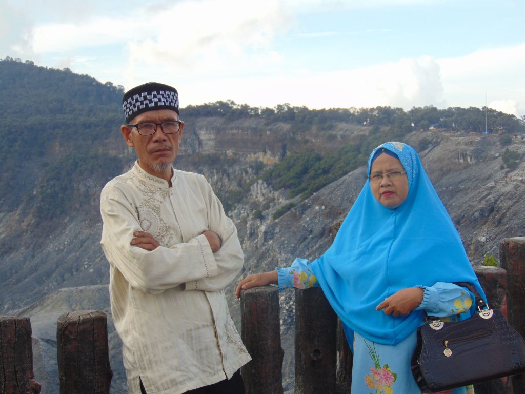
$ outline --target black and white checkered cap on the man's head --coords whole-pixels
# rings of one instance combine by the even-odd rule
[[[158,82],[148,82],[125,92],[122,109],[128,123],[139,113],[155,109],[172,109],[181,115],[178,111],[177,89]]]

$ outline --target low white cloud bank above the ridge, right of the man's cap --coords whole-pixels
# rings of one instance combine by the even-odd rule
[[[233,99],[256,107],[288,102],[309,108],[388,105],[409,109],[436,105],[443,93],[439,66],[430,57],[321,74],[283,70],[272,77],[211,77],[181,82],[182,103]]]

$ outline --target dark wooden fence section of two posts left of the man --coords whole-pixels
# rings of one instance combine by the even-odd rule
[[[57,322],[60,394],[108,394],[108,318],[96,310],[61,315]],[[0,394],[39,394],[29,318],[0,317]]]

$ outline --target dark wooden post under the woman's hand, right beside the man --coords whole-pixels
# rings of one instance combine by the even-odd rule
[[[243,290],[241,336],[251,361],[241,368],[246,394],[282,394],[281,329],[277,287]]]

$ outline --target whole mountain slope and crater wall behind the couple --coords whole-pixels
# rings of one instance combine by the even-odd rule
[[[31,93],[20,94],[26,91]],[[16,92],[20,97],[14,97]],[[48,387],[43,394],[56,392],[58,385],[50,367],[56,363],[58,315],[79,309],[109,314],[99,194],[135,158],[120,136],[121,95],[119,87],[88,76],[0,60],[0,109],[7,126],[0,129],[0,310],[31,317],[36,378]],[[331,224],[348,213],[364,184],[367,153],[392,138],[418,149],[472,263],[480,263],[485,253],[497,256],[502,238],[525,235],[525,141],[519,133],[503,140],[452,129],[422,131],[410,126],[414,114],[402,110],[395,111],[402,118],[374,124],[388,108],[353,113],[282,106],[269,118],[245,109],[224,102],[182,109],[186,127],[176,163],[203,173],[230,211],[246,257],[239,279],[289,265],[295,257],[321,255],[331,242]],[[397,123],[406,129],[396,128]],[[323,161],[349,146],[355,157]],[[506,149],[518,157],[513,169],[503,161]],[[297,175],[300,181],[309,182],[309,174],[317,173],[316,180],[330,179],[332,164],[343,169],[341,177],[312,195],[290,198],[289,188],[274,189],[275,177],[286,173],[264,176],[293,154],[310,157],[310,152],[318,154],[317,161]],[[226,294],[238,322],[236,282]],[[281,297],[289,383],[293,292]],[[115,392],[124,392],[120,344],[113,331],[110,346],[111,364],[118,371]]]

